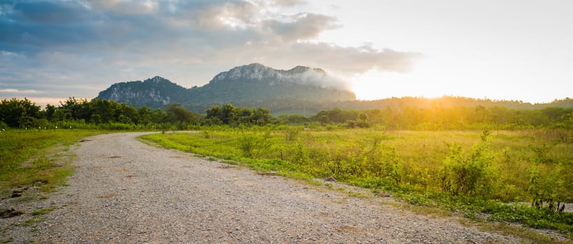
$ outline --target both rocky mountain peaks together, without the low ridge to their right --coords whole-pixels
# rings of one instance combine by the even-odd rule
[[[156,76],[145,81],[120,82],[101,91],[97,98],[125,102],[136,107],[164,107],[179,103],[196,112],[231,102],[267,107],[275,101],[340,102],[356,100],[344,82],[320,68],[296,66],[275,70],[260,63],[238,66],[215,75],[204,86],[185,89]]]

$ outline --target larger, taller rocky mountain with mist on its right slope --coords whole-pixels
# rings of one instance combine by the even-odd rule
[[[290,70],[275,70],[252,63],[219,73],[205,86],[191,89],[190,99],[186,103],[280,99],[323,102],[356,100],[354,93],[340,88],[340,85],[342,82],[319,68],[296,66]]]

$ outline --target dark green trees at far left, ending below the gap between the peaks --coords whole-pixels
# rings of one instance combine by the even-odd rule
[[[29,100],[2,100],[0,123],[21,129],[103,129],[103,130],[166,130],[189,129],[199,124],[201,116],[179,105],[163,109],[149,109],[110,100],[91,101],[68,98],[59,107],[39,106]]]

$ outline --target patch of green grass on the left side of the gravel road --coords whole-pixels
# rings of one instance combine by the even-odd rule
[[[0,196],[10,197],[13,188],[37,186],[50,192],[65,185],[73,174],[69,146],[96,130],[7,130],[0,134]],[[63,162],[62,162],[63,160]],[[21,197],[27,199],[26,197]],[[15,199],[17,201],[24,201]],[[28,199],[30,200],[30,199]]]

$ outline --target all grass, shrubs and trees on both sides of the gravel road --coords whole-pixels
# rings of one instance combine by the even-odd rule
[[[477,221],[517,222],[571,236],[573,109],[396,106],[273,116],[266,108],[135,108],[69,98],[44,109],[0,102],[0,186],[49,190],[72,174],[46,148],[110,130],[199,130],[146,135],[167,148],[273,174],[331,178]],[[386,195],[384,193],[383,195]]]

